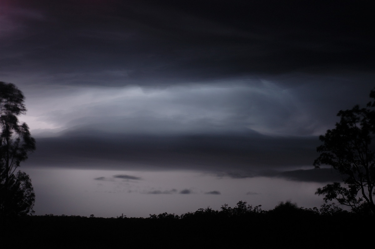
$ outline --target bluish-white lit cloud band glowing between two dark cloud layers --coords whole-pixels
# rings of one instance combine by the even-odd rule
[[[25,94],[33,97],[31,92]],[[256,86],[233,81],[194,87],[56,88],[37,99],[28,98],[27,115],[20,120],[35,135],[82,125],[111,132],[156,134],[254,130],[288,135],[296,134],[296,125],[314,129],[300,101],[287,89],[267,81]],[[161,121],[162,125],[151,121]]]

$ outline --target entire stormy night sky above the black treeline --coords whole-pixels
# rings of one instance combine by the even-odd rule
[[[35,214],[319,207],[312,165],[375,86],[371,1],[0,0]]]

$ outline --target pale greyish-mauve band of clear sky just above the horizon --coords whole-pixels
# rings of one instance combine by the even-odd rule
[[[36,192],[36,215],[81,215],[148,217],[163,212],[195,212],[210,206],[220,210],[240,200],[262,209],[273,209],[281,201],[299,206],[319,207],[323,200],[311,195],[321,183],[293,182],[254,177],[231,179],[192,171],[114,171],[27,168]],[[140,177],[139,180],[114,178],[115,175]],[[95,180],[105,177],[107,180]],[[181,194],[189,190],[189,194]],[[151,192],[160,191],[160,194]],[[218,191],[220,194],[207,194]],[[164,194],[163,194],[164,192]],[[167,193],[168,192],[168,193]],[[293,192],[293,198],[290,196]],[[43,200],[43,203],[38,200]],[[47,201],[46,201],[47,200]],[[74,211],[72,211],[74,210]]]

